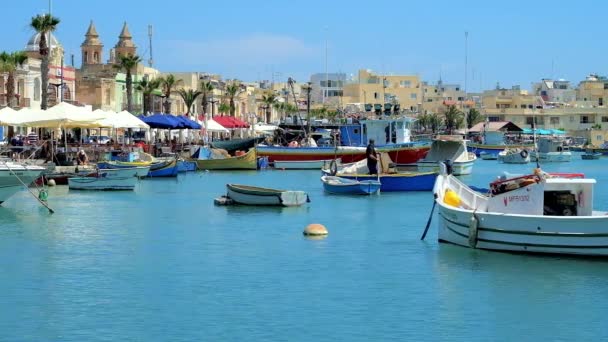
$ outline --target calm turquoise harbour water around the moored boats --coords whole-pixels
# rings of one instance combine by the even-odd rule
[[[533,164],[478,160],[487,187]],[[608,158],[546,165],[595,177]],[[608,260],[438,244],[428,193],[324,194],[316,171],[199,172],[135,192],[50,189],[0,208],[4,341],[539,341],[608,338]],[[216,207],[225,184],[308,191],[300,208]],[[309,240],[309,223],[329,236]]]

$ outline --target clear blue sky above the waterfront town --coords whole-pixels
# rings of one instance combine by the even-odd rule
[[[22,49],[30,18],[48,0],[4,6],[0,50]],[[80,61],[80,44],[94,20],[104,59],[127,21],[148,58],[147,25],[154,26],[156,67],[202,71],[246,81],[306,81],[325,71],[419,74],[435,82],[464,84],[468,39],[468,89],[606,74],[602,1],[134,1],[53,0],[61,19],[56,35]],[[10,14],[8,14],[9,12]]]

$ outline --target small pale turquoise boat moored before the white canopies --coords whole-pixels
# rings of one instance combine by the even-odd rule
[[[102,169],[87,177],[68,178],[70,190],[134,190],[137,170],[134,168]]]

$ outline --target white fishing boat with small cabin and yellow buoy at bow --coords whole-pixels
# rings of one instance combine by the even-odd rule
[[[491,183],[491,195],[484,196],[442,165],[433,190],[439,241],[509,252],[606,256],[608,213],[593,211],[594,185],[594,179],[536,169]]]

